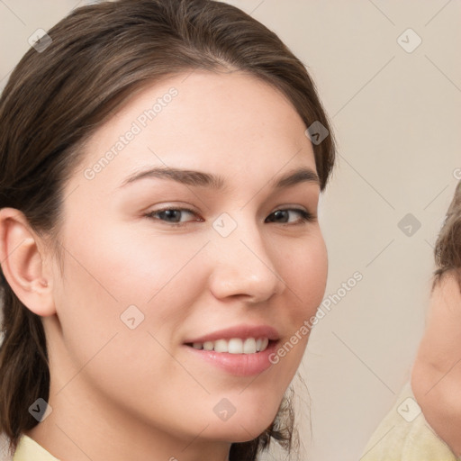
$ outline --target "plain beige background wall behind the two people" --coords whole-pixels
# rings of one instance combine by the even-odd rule
[[[32,32],[85,3],[0,0],[0,89]],[[301,394],[298,410],[310,460],[357,460],[409,378],[428,305],[432,246],[461,178],[461,5],[230,3],[277,32],[308,66],[339,141],[339,164],[322,200],[330,260],[325,297],[356,271],[363,280],[312,333],[301,368],[310,400]],[[422,40],[411,53],[397,41],[409,28]],[[402,35],[407,48],[416,43],[411,33]],[[411,236],[398,226],[407,213],[420,222]]]

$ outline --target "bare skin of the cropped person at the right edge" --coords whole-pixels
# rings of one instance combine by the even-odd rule
[[[430,296],[426,329],[411,371],[411,388],[432,429],[461,456],[461,293],[447,273]]]

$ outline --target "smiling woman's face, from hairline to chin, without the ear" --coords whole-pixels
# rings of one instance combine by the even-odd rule
[[[95,421],[188,440],[267,428],[327,277],[304,131],[272,86],[194,71],[95,132],[64,191],[57,315],[44,318],[52,407],[85,399]]]

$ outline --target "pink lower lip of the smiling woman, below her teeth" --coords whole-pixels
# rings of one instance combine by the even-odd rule
[[[278,341],[270,341],[265,350],[254,354],[230,354],[229,352],[195,349],[191,346],[185,346],[185,348],[189,349],[195,357],[206,360],[231,375],[251,376],[259,375],[273,365],[269,356],[275,352],[277,343]]]

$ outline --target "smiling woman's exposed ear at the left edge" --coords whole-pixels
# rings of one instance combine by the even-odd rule
[[[23,212],[0,210],[0,264],[6,281],[29,310],[46,317],[56,309],[41,243]]]

